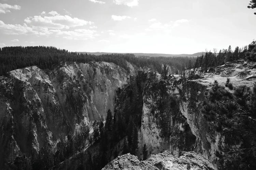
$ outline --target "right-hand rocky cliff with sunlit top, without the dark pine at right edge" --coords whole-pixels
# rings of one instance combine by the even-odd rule
[[[244,137],[241,137],[239,133],[237,133],[236,138],[225,131],[218,132],[216,122],[207,121],[201,112],[201,108],[205,100],[204,94],[209,91],[215,80],[220,85],[225,86],[227,78],[229,78],[234,87],[246,85],[252,88],[256,82],[254,78],[256,70],[254,68],[250,69],[252,65],[253,63],[244,61],[226,63],[217,67],[212,73],[209,70],[209,73],[203,74],[199,79],[187,81],[186,85],[179,77],[169,78],[168,87],[171,90],[168,90],[168,99],[170,99],[170,96],[171,98],[174,97],[179,103],[177,111],[164,110],[164,115],[169,115],[169,117],[165,116],[163,119],[168,119],[170,136],[161,135],[163,129],[159,120],[155,117],[160,112],[160,109],[156,107],[157,104],[159,105],[160,95],[152,91],[147,92],[148,89],[144,89],[142,125],[139,131],[139,152],[141,153],[145,143],[148,151],[153,154],[167,149],[176,156],[180,151],[196,151],[209,158],[210,162],[219,169],[236,169],[246,166],[246,160],[234,156],[237,151],[244,149]],[[167,107],[167,105],[164,107]],[[253,143],[253,140],[251,140],[248,146],[253,146]],[[142,158],[142,154],[138,153],[138,155]],[[248,165],[247,168],[250,168],[250,166]]]

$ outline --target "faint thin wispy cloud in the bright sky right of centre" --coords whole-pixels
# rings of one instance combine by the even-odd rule
[[[149,20],[151,22],[154,22],[156,20],[154,19],[151,19]],[[153,31],[153,30],[165,30],[165,31],[170,31],[172,28],[174,27],[178,27],[180,26],[182,23],[185,23],[185,22],[189,22],[189,20],[187,19],[180,19],[180,20],[176,20],[176,21],[171,21],[169,23],[161,23],[161,22],[154,22],[150,25],[149,28],[145,29],[146,31]]]

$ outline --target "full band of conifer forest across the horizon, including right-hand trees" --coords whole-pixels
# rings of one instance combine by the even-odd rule
[[[104,61],[113,62],[129,71],[126,61],[136,65],[137,67],[148,67],[153,71],[161,72],[162,64],[173,66],[174,73],[181,71],[183,66],[186,68],[193,68],[196,63],[197,67],[214,67],[223,65],[226,62],[233,60],[245,59],[249,61],[256,61],[256,41],[253,41],[248,46],[234,50],[229,46],[228,49],[222,49],[217,53],[206,51],[205,55],[196,57],[148,57],[134,54],[104,54],[91,55],[80,54],[76,52],[68,52],[64,49],[57,49],[55,47],[3,47],[0,48],[0,75],[8,71],[18,68],[36,65],[41,69],[54,69],[60,65],[62,61],[66,62],[81,62],[86,63],[90,61]],[[218,54],[218,55],[217,55]]]

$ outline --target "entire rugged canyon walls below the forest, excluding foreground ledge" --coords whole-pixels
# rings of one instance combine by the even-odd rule
[[[206,159],[213,169],[256,167],[254,63],[234,61],[190,79],[193,70],[186,78],[127,65],[130,72],[106,62],[62,63],[2,76],[0,165],[30,158],[42,169],[100,169],[130,152],[138,158],[126,154],[106,167],[204,169]],[[110,131],[102,120],[108,109]],[[157,155],[140,162],[144,146],[147,158]]]

